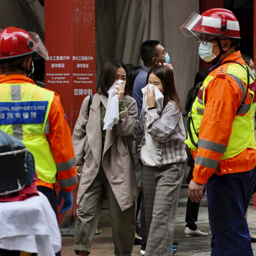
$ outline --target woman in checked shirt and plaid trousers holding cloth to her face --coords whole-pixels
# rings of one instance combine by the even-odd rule
[[[139,121],[143,137],[137,148],[146,213],[145,255],[167,256],[172,255],[186,137],[174,73],[163,65],[152,68],[147,84]]]

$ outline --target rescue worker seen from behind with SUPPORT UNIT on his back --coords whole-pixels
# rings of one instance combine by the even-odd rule
[[[35,158],[38,190],[47,196],[57,216],[57,203],[64,199],[60,213],[73,204],[77,186],[76,159],[72,135],[60,96],[40,88],[28,76],[34,53],[48,56],[34,32],[7,27],[0,31],[0,129],[23,141]],[[53,189],[60,184],[58,201]]]

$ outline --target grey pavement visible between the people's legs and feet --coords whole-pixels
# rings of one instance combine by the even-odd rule
[[[210,255],[210,236],[208,237],[184,237],[185,229],[185,211],[187,204],[187,187],[183,186],[180,192],[179,206],[177,208],[175,236],[174,239],[179,241],[177,256],[209,256]],[[206,197],[206,196],[205,196]],[[256,211],[249,207],[248,224],[250,232],[256,235]],[[210,232],[208,221],[207,200],[204,199],[199,210],[197,227],[203,232]],[[114,245],[112,233],[109,223],[108,209],[103,209],[101,213],[98,230],[101,234],[94,237],[90,256],[113,256]],[[61,255],[72,256],[76,255],[72,251],[74,237],[63,237],[63,246]],[[254,255],[256,255],[256,243],[252,243]],[[135,245],[133,256],[141,256],[141,246]],[[154,256],[154,255],[152,255]],[[225,255],[223,255],[225,256]],[[246,256],[246,255],[245,255]]]

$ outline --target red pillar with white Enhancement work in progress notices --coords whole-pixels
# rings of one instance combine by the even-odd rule
[[[71,130],[82,101],[96,92],[95,0],[45,0],[46,88],[61,96]],[[74,206],[65,218],[76,216]],[[59,215],[61,223],[63,214]]]

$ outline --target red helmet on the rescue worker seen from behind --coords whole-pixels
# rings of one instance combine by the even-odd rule
[[[7,27],[0,31],[0,61],[37,52],[44,59],[48,51],[35,32]]]

